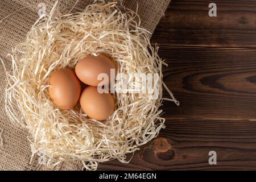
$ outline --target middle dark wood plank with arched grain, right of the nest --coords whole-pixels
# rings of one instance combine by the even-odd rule
[[[164,81],[180,106],[166,116],[256,121],[256,49],[160,48]],[[164,92],[167,97],[167,93]]]

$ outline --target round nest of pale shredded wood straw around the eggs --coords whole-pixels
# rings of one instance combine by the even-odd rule
[[[86,169],[97,169],[98,163],[112,159],[127,163],[126,154],[139,150],[164,127],[159,106],[162,86],[166,87],[162,82],[165,63],[158,56],[158,47],[151,46],[150,32],[140,27],[137,12],[115,2],[94,3],[81,13],[66,15],[56,6],[36,21],[24,42],[10,54],[13,69],[6,72],[7,114],[30,131],[32,158],[40,152],[49,165],[75,159]],[[57,109],[49,98],[49,75],[98,54],[111,57],[118,73],[158,73],[158,98],[145,93],[115,94],[115,111],[104,122],[87,117],[79,104],[72,110]],[[122,79],[119,81],[125,81]],[[168,92],[171,98],[166,100],[178,105]]]

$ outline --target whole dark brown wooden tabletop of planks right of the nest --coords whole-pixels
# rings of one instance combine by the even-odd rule
[[[217,17],[208,15],[211,2]],[[172,0],[151,42],[167,59],[164,82],[180,106],[163,102],[166,129],[129,164],[98,169],[255,170],[256,0]]]

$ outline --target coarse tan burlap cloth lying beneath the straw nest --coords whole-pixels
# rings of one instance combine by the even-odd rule
[[[60,1],[60,9],[72,12],[82,11],[93,0],[80,0],[75,4],[72,0]],[[170,0],[123,0],[125,7],[136,10],[141,16],[142,27],[153,32],[156,24],[164,15]],[[11,62],[7,53],[17,43],[22,42],[35,20],[39,18],[39,3],[46,5],[49,12],[55,1],[51,0],[1,0],[0,1],[0,58],[6,68],[11,68]],[[0,66],[0,169],[1,170],[81,170],[82,163],[79,161],[61,163],[54,168],[39,165],[36,156],[30,163],[31,149],[25,129],[14,126],[7,117],[4,107],[4,88],[6,76],[3,65]]]

